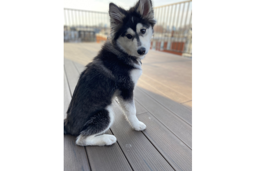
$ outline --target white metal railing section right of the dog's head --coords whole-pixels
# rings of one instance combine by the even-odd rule
[[[154,8],[156,25],[151,48],[176,54],[191,51],[190,1]]]

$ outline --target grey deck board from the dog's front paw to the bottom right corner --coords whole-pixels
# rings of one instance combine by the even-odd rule
[[[146,124],[143,134],[176,171],[190,171],[192,151],[149,112],[137,116]]]

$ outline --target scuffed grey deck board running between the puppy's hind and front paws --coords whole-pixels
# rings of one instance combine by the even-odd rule
[[[115,102],[114,105],[115,122],[111,131],[116,136],[132,170],[173,170],[141,131],[131,129],[118,103]]]

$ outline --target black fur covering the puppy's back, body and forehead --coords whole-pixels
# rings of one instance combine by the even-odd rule
[[[129,11],[119,10],[126,16],[123,25],[110,41],[105,42],[93,62],[81,73],[67,110],[67,118],[64,119],[64,134],[88,136],[104,131],[110,123],[106,107],[111,105],[114,93],[118,92],[125,101],[133,99],[135,85],[130,72],[135,68],[134,64],[141,61],[139,57],[122,52],[115,40],[123,36],[122,33],[128,27],[136,32],[138,22],[148,27],[151,25],[152,28],[154,23],[142,19],[136,7]]]

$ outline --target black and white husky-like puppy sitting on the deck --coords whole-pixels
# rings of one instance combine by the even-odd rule
[[[146,129],[136,117],[133,89],[156,23],[152,2],[139,0],[128,11],[110,3],[109,15],[110,39],[81,73],[64,119],[64,134],[76,135],[80,146],[116,142],[114,135],[99,135],[114,121],[112,101],[116,97],[132,128]]]

